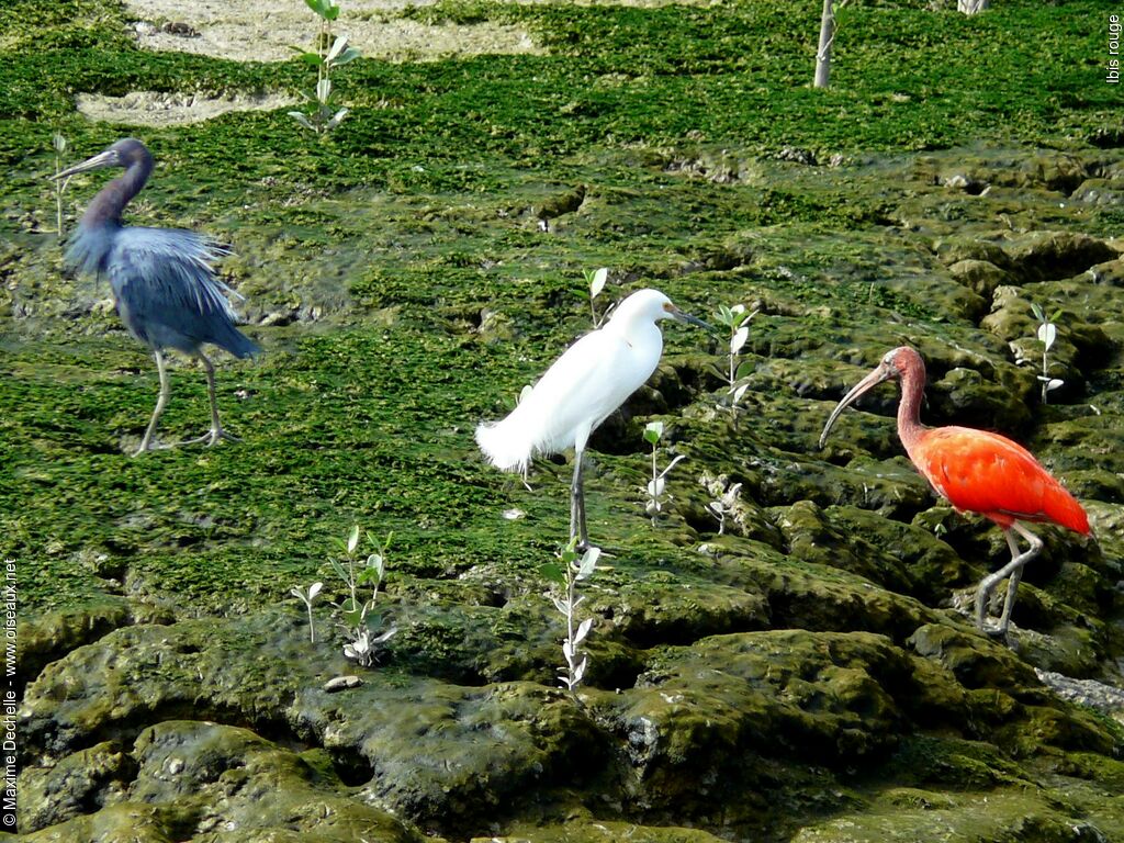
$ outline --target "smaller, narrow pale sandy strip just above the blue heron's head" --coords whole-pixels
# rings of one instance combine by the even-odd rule
[[[269,111],[297,102],[280,93],[207,94],[134,91],[124,97],[80,93],[78,110],[91,120],[134,126],[174,126],[218,117],[227,111]]]

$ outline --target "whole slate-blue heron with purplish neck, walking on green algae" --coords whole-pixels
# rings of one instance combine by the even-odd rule
[[[223,283],[211,268],[214,260],[229,251],[194,232],[121,225],[121,211],[152,173],[152,155],[139,140],[118,140],[54,178],[109,166],[125,167],[125,174],[102,188],[85,209],[71,238],[66,263],[82,272],[108,277],[118,316],[156,359],[160,397],[134,455],[152,446],[156,423],[167,404],[171,384],[164,366],[165,348],[198,357],[207,372],[211,427],[207,434],[183,444],[206,439],[214,445],[220,438],[233,439],[219,423],[215,366],[201,350],[203,343],[211,343],[236,357],[259,353],[259,347],[234,326],[236,317],[224,293],[242,297]]]

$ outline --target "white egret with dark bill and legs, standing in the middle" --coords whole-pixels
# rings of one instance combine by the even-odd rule
[[[625,299],[600,329],[581,337],[535,384],[507,418],[477,427],[477,442],[502,471],[524,471],[537,454],[574,450],[570,484],[570,537],[589,546],[581,457],[601,422],[655,371],[663,353],[660,319],[678,319],[714,330],[685,314],[659,290]]]

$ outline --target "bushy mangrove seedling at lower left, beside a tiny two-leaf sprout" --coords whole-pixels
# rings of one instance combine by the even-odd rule
[[[364,561],[360,561],[356,555],[359,537],[359,525],[352,525],[347,542],[343,545],[343,556],[347,562],[346,568],[337,559],[329,558],[328,561],[348,590],[348,596],[342,602],[333,604],[339,613],[339,626],[347,638],[347,643],[344,645],[344,655],[366,668],[374,661],[378,646],[389,641],[398,632],[398,627],[391,626],[389,629],[377,633],[375,631],[382,626],[382,616],[374,613],[379,598],[379,587],[382,584],[387,570],[386,553],[393,533],[389,533],[382,543],[369,536],[369,541],[374,546],[374,553],[368,555]],[[371,586],[371,597],[370,599],[361,599],[360,587],[366,584]]]

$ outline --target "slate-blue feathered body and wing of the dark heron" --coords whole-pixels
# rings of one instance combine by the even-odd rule
[[[257,347],[234,327],[234,309],[211,261],[229,250],[193,232],[117,229],[105,262],[118,311],[138,339],[154,347],[194,351],[214,343],[236,356]]]

